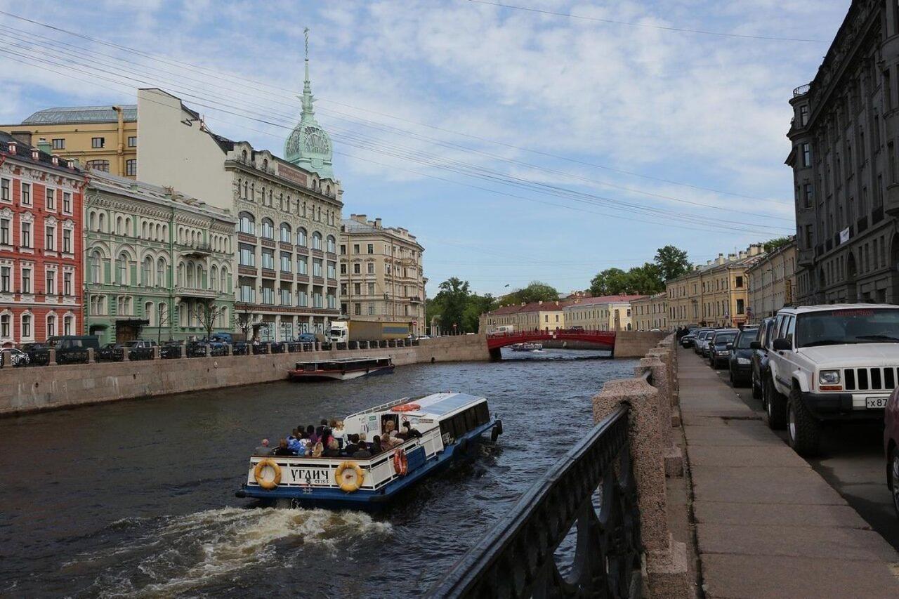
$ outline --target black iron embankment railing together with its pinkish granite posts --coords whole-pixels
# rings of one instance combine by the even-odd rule
[[[674,347],[669,335],[633,379],[603,385],[592,431],[426,596],[631,597],[644,587],[650,596],[691,596],[686,545],[673,541],[667,519],[665,478],[683,466],[672,441],[680,426]]]

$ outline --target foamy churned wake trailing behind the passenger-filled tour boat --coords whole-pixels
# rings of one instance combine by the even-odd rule
[[[341,544],[391,532],[389,523],[368,514],[301,509],[207,510],[151,521],[129,518],[113,530],[148,529],[127,544],[83,554],[64,570],[96,574],[89,595],[172,596],[227,583],[245,568],[296,564],[304,545],[336,553]],[[99,571],[97,571],[99,570]]]

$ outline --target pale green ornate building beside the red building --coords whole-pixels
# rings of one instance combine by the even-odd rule
[[[84,210],[85,334],[165,342],[234,330],[230,210],[95,170]]]

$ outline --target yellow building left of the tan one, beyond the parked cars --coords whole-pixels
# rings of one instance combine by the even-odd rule
[[[746,270],[758,262],[761,246],[697,265],[689,273],[665,283],[668,325],[740,326],[748,321]]]

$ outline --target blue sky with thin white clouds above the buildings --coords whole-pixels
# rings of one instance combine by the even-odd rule
[[[0,122],[156,86],[282,156],[308,27],[344,218],[409,229],[429,297],[451,276],[494,295],[582,290],[661,246],[704,264],[794,232],[788,101],[848,0],[496,1],[536,10],[0,0],[84,36],[0,14]]]

